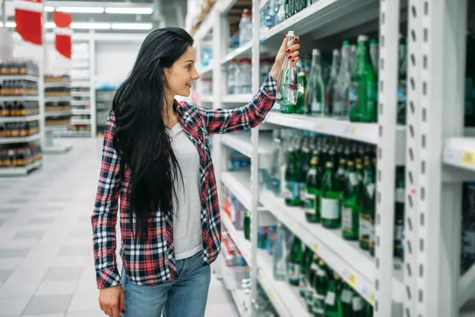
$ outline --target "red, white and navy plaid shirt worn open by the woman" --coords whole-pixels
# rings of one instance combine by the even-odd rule
[[[277,81],[269,75],[249,104],[240,108],[229,110],[201,108],[175,101],[178,121],[200,156],[200,219],[203,228],[202,258],[205,263],[216,260],[221,249],[217,184],[207,136],[258,126],[275,103],[276,90]],[[117,245],[115,226],[119,205],[122,234],[120,256],[126,276],[139,285],[176,280],[171,219],[166,219],[156,209],[152,219],[149,220],[149,242],[139,244],[133,239],[135,216],[131,217],[126,212],[130,207],[128,193],[131,172],[126,167],[123,179],[119,177],[120,158],[112,145],[115,128],[115,115],[111,112],[105,127],[101,172],[92,214],[97,287],[107,288],[121,283],[115,256]]]

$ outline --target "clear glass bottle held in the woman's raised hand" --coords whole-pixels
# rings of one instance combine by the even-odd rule
[[[288,31],[288,46],[293,44],[295,38],[294,31]],[[284,58],[284,63],[279,71],[279,78],[277,84],[276,101],[281,104],[282,113],[295,112],[295,105],[298,98],[298,76],[297,65],[295,62],[288,59],[288,53]]]

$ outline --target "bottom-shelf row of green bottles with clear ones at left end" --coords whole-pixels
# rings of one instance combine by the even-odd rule
[[[372,306],[296,235],[287,244],[287,232],[281,224],[277,226],[274,278],[297,286],[310,314],[319,317],[373,316]]]

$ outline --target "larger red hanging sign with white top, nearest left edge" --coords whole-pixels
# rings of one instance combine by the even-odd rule
[[[43,1],[15,0],[15,31],[24,40],[36,45],[43,44]]]

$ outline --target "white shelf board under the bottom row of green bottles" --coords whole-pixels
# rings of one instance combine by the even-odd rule
[[[228,233],[238,246],[244,260],[251,264],[251,242],[244,238],[241,230],[236,230],[226,213],[221,212],[221,221]],[[281,317],[309,317],[305,303],[298,297],[298,288],[291,286],[286,281],[276,281],[272,276],[272,257],[267,250],[258,249],[257,265],[259,268],[258,279],[261,286],[268,294],[269,300],[274,305]]]

